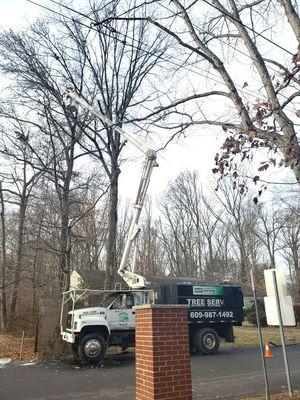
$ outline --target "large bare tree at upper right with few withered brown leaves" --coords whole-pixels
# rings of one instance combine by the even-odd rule
[[[191,76],[196,76],[198,70],[191,70],[193,61],[196,67],[196,63],[202,61],[204,68],[199,72],[202,84],[199,87],[194,82],[189,84],[190,91],[185,97],[176,97],[172,101],[166,99],[164,104],[143,118],[150,118],[155,123],[160,116],[164,125],[169,118],[168,127],[177,129],[177,133],[190,126],[223,128],[228,137],[215,159],[214,170],[222,176],[236,169],[233,160],[237,156],[238,160],[244,160],[250,159],[252,151],[259,148],[266,147],[275,153],[279,149],[282,154],[279,164],[290,167],[299,183],[300,146],[296,131],[299,16],[292,2],[279,0],[270,3],[259,0],[243,4],[238,0],[216,0],[213,3],[205,1],[200,6],[198,0],[171,0],[170,4],[171,6],[160,3],[156,18],[149,15],[147,20],[158,30],[167,33],[177,44],[178,56],[188,60],[186,69],[190,70]],[[272,21],[273,12],[280,21],[285,21],[287,17],[295,35],[296,54],[280,47],[276,39],[272,41],[264,35],[265,31],[274,29],[269,22]],[[264,18],[266,15],[268,17]],[[128,18],[130,16],[119,16],[119,19]],[[143,18],[139,16],[135,20]],[[276,33],[279,35],[279,32]],[[274,59],[267,57],[264,43],[272,46],[274,53],[279,48],[281,56]],[[286,53],[288,58],[282,61],[283,54]],[[240,85],[239,74],[230,67],[231,61],[234,64],[240,60],[249,64],[249,73],[250,69],[255,71],[255,79],[259,80],[261,87],[259,93],[254,94],[247,89],[251,85],[248,80]],[[182,63],[182,70],[185,66]],[[203,81],[205,75],[206,82]],[[258,101],[253,102],[253,97]],[[220,104],[220,112],[211,106],[213,100]],[[177,123],[174,122],[176,115]],[[259,171],[277,162],[275,155],[270,156],[262,163]],[[254,178],[257,182],[260,177],[256,175]]]

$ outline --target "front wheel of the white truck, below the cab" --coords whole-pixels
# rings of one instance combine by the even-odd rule
[[[106,341],[99,333],[89,333],[80,340],[78,355],[81,361],[97,364],[105,355]]]

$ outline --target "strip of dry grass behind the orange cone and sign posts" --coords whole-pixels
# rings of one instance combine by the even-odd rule
[[[300,343],[300,329],[298,327],[287,327],[284,329],[287,344]],[[243,326],[234,327],[235,343],[223,343],[222,347],[241,347],[241,346],[258,346],[257,327],[244,323]],[[262,328],[263,342],[273,342],[280,345],[279,327]]]

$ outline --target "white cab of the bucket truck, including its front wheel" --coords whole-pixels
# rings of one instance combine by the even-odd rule
[[[84,299],[91,294],[102,297],[99,306],[77,308],[78,304],[84,306]],[[72,311],[68,312],[64,326],[64,308],[70,301]],[[96,364],[104,357],[109,346],[120,346],[122,349],[134,346],[134,307],[152,302],[152,290],[77,289],[65,292],[60,321],[62,339],[71,344],[82,361]]]

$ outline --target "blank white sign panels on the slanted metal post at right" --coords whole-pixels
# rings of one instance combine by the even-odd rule
[[[295,326],[295,314],[291,296],[287,296],[284,273],[280,269],[267,269],[264,271],[265,283],[268,297],[264,297],[266,317],[268,325],[279,325],[278,310],[276,304],[276,291],[274,285],[273,271],[276,273],[278,295],[282,316],[282,323],[285,326]]]

